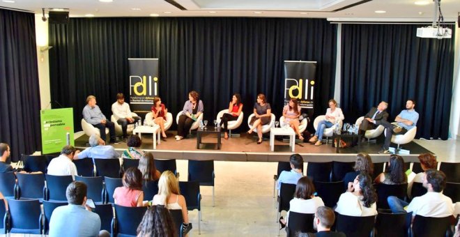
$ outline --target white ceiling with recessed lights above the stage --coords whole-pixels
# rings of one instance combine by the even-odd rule
[[[180,10],[164,0],[0,0],[0,7],[29,10],[41,14],[42,8],[68,8],[70,17],[321,17],[337,21],[431,22],[434,2],[417,6],[422,0],[176,0]],[[359,4],[360,3],[360,4]],[[346,8],[347,6],[352,6]],[[139,8],[140,10],[132,10]],[[342,10],[337,10],[345,8]],[[378,14],[376,10],[385,10]],[[441,0],[445,21],[457,21],[459,0]],[[254,12],[259,13],[254,13]],[[165,13],[170,12],[170,13]]]

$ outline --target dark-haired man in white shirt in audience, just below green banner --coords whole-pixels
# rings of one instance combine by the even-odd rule
[[[72,160],[78,153],[79,151],[75,147],[70,145],[64,146],[61,155],[49,162],[47,174],[56,176],[71,175],[75,177],[77,175],[77,167]]]

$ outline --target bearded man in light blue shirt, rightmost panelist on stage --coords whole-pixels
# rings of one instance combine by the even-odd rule
[[[394,121],[397,122],[397,125],[389,123],[388,121],[383,121],[381,124],[386,128],[385,133],[385,143],[383,143],[381,151],[378,153],[389,154],[390,151],[390,142],[392,135],[401,135],[405,134],[411,128],[414,128],[417,125],[418,113],[415,112],[415,100],[407,100],[406,109],[401,111],[401,113],[396,116]]]

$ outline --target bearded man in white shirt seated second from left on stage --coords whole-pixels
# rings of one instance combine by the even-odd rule
[[[112,113],[115,116],[116,122],[121,125],[123,139],[127,137],[126,128],[128,128],[128,124],[137,123],[141,119],[139,116],[132,116],[130,105],[125,103],[125,95],[123,93],[116,94],[116,102],[112,105]]]

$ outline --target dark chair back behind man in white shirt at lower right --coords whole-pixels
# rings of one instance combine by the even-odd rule
[[[447,231],[450,229],[450,220],[448,217],[424,217],[415,215],[412,222],[413,237],[433,237],[449,236]]]

